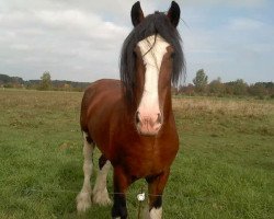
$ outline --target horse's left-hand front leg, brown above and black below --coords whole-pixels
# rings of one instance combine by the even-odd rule
[[[119,166],[114,168],[113,186],[114,186],[114,204],[112,207],[112,218],[126,219],[126,189],[129,186],[129,178]]]

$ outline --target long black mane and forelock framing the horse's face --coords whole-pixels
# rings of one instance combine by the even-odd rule
[[[159,34],[163,37],[174,49],[172,72],[173,85],[178,85],[181,76],[185,72],[181,36],[176,28],[171,24],[168,16],[163,12],[155,12],[153,14],[146,16],[146,19],[126,37],[121,53],[121,80],[126,89],[126,99],[132,103],[135,99],[134,88],[136,83],[136,55],[134,49],[138,42],[155,34]]]

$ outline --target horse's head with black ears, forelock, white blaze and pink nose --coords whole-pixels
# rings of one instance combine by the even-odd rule
[[[178,83],[184,68],[179,20],[180,8],[174,1],[167,14],[155,12],[146,18],[139,2],[133,5],[135,28],[123,45],[121,79],[128,104],[136,106],[140,135],[157,135],[171,113],[171,83]]]

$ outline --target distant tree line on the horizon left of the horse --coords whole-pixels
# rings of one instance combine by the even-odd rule
[[[30,89],[41,91],[84,91],[89,85],[88,82],[75,82],[66,80],[52,80],[49,71],[45,71],[41,80],[24,81],[19,77],[9,77],[0,74],[0,88],[15,88],[15,89]]]

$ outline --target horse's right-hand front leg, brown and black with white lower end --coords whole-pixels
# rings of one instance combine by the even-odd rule
[[[162,218],[162,193],[168,182],[170,170],[164,171],[160,175],[147,177],[149,206],[145,211],[146,219]]]

